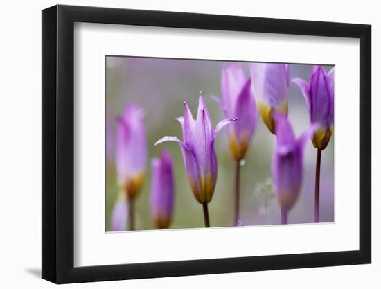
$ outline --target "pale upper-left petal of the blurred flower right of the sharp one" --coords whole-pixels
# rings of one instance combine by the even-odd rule
[[[227,105],[227,117],[233,116],[238,94],[245,84],[246,77],[242,66],[239,64],[229,64],[222,67],[221,91],[222,100]]]

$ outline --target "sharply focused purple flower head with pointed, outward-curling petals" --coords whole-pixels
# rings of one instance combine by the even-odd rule
[[[154,145],[164,141],[179,143],[193,194],[200,204],[207,204],[213,197],[217,181],[215,137],[221,128],[236,119],[224,119],[213,130],[211,117],[200,93],[196,120],[193,119],[186,102],[184,102],[184,117],[179,117],[177,120],[181,123],[183,141],[177,137],[163,137]]]

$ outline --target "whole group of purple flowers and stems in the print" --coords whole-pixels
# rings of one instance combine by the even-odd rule
[[[333,133],[333,69],[326,73],[321,66],[312,67],[309,83],[301,78],[292,79],[301,89],[310,114],[310,125],[299,138],[294,135],[292,124],[287,119],[289,71],[288,64],[252,63],[247,76],[239,64],[222,67],[222,97],[213,98],[220,105],[225,119],[213,128],[208,107],[200,92],[196,118],[193,118],[186,102],[184,116],[177,118],[182,128],[182,140],[166,136],[154,143],[154,146],[166,141],[179,144],[190,189],[195,200],[202,204],[206,227],[210,226],[208,204],[213,198],[218,179],[215,141],[218,132],[225,126],[229,151],[237,164],[233,182],[236,200],[234,226],[243,225],[239,216],[240,161],[251,146],[259,115],[269,132],[276,136],[272,184],[283,224],[287,223],[288,213],[299,198],[307,140],[312,140],[318,156],[328,146]],[[129,104],[117,120],[116,172],[121,193],[112,213],[114,231],[125,229],[127,223],[128,229],[134,229],[134,201],[145,182],[147,162],[144,116],[143,109]],[[158,229],[166,229],[170,227],[174,209],[174,164],[166,150],[161,152],[159,158],[152,159],[151,164],[152,220]],[[318,178],[316,182],[319,182]]]

